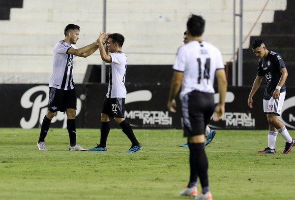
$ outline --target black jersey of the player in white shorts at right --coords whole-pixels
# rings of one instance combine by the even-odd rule
[[[266,77],[266,88],[263,99],[269,100],[281,78],[281,68],[286,67],[282,57],[273,51],[269,51],[266,58],[259,60],[257,75]],[[285,92],[285,84],[280,92]]]

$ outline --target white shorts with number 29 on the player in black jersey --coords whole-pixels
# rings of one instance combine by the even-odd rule
[[[277,114],[281,115],[281,110],[285,100],[286,92],[282,92],[279,95],[279,98],[274,100],[272,97],[270,100],[263,100],[263,111],[266,114]]]

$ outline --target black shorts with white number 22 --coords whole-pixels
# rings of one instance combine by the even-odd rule
[[[125,118],[125,98],[105,98],[102,105],[102,113],[111,118]]]

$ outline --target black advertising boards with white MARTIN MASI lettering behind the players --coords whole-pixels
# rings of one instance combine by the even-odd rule
[[[106,84],[77,84],[77,128],[99,128],[100,109],[107,91]],[[263,113],[263,88],[254,96],[254,108],[247,106],[251,87],[229,87],[226,96],[226,113],[218,123],[210,122],[214,129],[266,130]],[[127,85],[125,116],[136,129],[181,129],[180,102],[177,113],[166,108],[169,85]],[[47,85],[0,84],[0,127],[38,128],[47,111]],[[218,94],[214,95],[218,102]],[[281,120],[288,129],[295,129],[295,88],[287,90]],[[58,112],[51,127],[66,127],[66,114]],[[111,128],[119,128],[112,121]]]

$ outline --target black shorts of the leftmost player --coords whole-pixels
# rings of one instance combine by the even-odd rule
[[[57,88],[49,88],[48,110],[50,112],[64,112],[67,108],[77,109],[76,90],[59,90]]]

